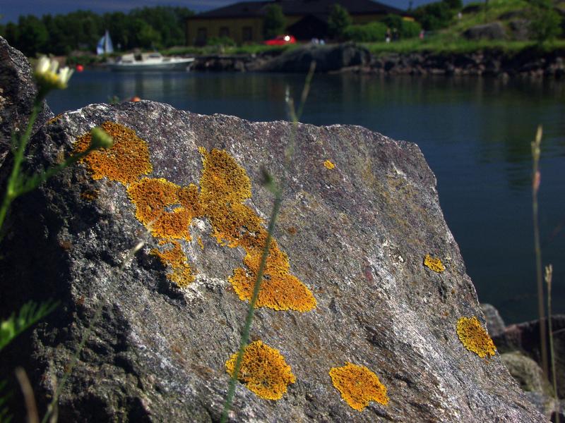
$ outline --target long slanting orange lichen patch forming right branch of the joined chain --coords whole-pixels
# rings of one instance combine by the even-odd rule
[[[213,236],[221,245],[242,247],[247,269],[235,269],[230,283],[241,300],[250,300],[263,255],[267,232],[259,216],[245,204],[251,197],[251,182],[244,168],[225,151],[201,148],[203,173],[200,180],[201,208],[210,219]],[[275,240],[270,245],[258,307],[305,312],[316,307],[314,295],[290,274],[287,255]]]

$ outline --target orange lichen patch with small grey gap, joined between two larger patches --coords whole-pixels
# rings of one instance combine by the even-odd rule
[[[163,178],[143,178],[128,187],[136,218],[155,237],[190,240],[189,226],[201,213],[198,188],[180,187]]]

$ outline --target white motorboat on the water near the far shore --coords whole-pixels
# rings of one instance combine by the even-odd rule
[[[112,71],[186,71],[193,62],[194,57],[164,57],[155,51],[124,54],[107,66]]]

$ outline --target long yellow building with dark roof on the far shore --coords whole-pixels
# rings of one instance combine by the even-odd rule
[[[334,4],[347,9],[356,24],[379,20],[389,13],[409,17],[405,11],[371,0],[244,1],[187,18],[186,42],[203,45],[211,37],[230,37],[237,44],[262,42],[263,18],[271,4],[283,9],[287,33],[299,40],[328,36],[328,17]]]

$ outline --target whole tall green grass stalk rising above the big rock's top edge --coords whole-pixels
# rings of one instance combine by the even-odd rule
[[[301,104],[299,106],[298,114],[295,111],[294,103],[292,98],[287,99],[290,118],[292,119],[292,133],[290,134],[290,142],[285,149],[285,168],[290,165],[290,159],[292,154],[294,154],[295,149],[295,137],[296,129],[299,121],[299,117],[302,115],[302,109],[304,108],[304,103],[308,97],[308,92],[310,90],[311,80],[314,76],[314,71],[316,70],[316,62],[310,64],[310,68],[304,82],[304,88],[302,90]],[[230,377],[230,385],[227,388],[227,396],[225,399],[224,407],[222,410],[222,417],[220,418],[220,423],[227,422],[227,415],[232,409],[233,398],[235,394],[235,386],[237,384],[237,376],[239,376],[239,370],[242,367],[243,356],[245,352],[245,347],[249,341],[249,331],[251,330],[251,324],[253,323],[253,317],[255,314],[255,305],[258,299],[259,292],[261,291],[261,282],[263,281],[263,272],[265,271],[265,266],[267,263],[270,242],[273,238],[273,233],[275,231],[275,224],[280,212],[280,206],[283,202],[283,190],[276,185],[273,177],[268,174],[268,172],[263,169],[263,177],[265,178],[265,185],[269,188],[271,192],[275,195],[275,200],[273,202],[273,209],[270,214],[269,224],[267,228],[267,239],[265,241],[265,247],[263,248],[263,255],[261,256],[261,264],[259,264],[259,269],[255,279],[255,284],[253,288],[253,295],[251,296],[251,301],[249,302],[249,309],[247,311],[247,317],[245,319],[244,329],[242,331],[242,337],[239,341],[239,350],[237,351],[237,357],[235,360],[234,370]]]

